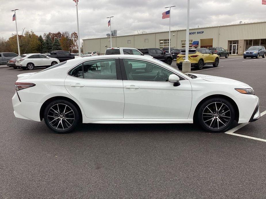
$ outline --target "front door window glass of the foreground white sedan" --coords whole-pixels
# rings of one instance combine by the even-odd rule
[[[123,59],[128,80],[167,82],[172,73],[153,63],[141,60]]]

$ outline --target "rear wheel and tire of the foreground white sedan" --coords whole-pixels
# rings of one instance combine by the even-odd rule
[[[46,126],[52,131],[56,133],[68,133],[79,123],[80,115],[76,106],[67,100],[60,99],[46,106],[43,118]]]

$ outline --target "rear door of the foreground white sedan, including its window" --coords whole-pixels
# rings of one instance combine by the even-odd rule
[[[87,118],[123,118],[123,81],[116,67],[118,58],[97,59],[85,61],[68,73],[65,87]]]

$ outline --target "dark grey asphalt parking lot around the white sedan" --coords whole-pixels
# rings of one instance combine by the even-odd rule
[[[251,85],[264,112],[265,69],[266,58],[229,57],[191,73]],[[266,197],[266,115],[237,135],[192,124],[81,124],[55,134],[13,114],[16,75],[27,72],[0,68],[1,198]]]

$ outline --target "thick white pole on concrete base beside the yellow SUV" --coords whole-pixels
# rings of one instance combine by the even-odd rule
[[[182,63],[182,71],[185,72],[185,73],[191,71],[191,62],[188,59],[188,50],[189,50],[189,4],[190,4],[190,0],[187,0],[186,52],[185,52],[185,61]]]

